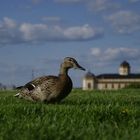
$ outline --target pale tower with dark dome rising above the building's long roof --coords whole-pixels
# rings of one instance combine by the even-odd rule
[[[119,67],[119,74],[123,76],[127,76],[130,74],[130,65],[127,61],[123,61]]]

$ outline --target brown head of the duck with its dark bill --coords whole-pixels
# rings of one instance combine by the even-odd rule
[[[82,66],[80,66],[78,64],[78,62],[74,58],[72,58],[72,57],[66,57],[66,58],[64,58],[64,62],[62,63],[62,65],[66,69],[74,68],[74,69],[80,69],[80,70],[84,70],[85,71],[85,68],[83,68]]]

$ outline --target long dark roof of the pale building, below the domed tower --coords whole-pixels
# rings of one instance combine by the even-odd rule
[[[96,76],[97,79],[139,79],[140,74],[128,74],[128,75],[120,75],[120,74],[100,74]]]

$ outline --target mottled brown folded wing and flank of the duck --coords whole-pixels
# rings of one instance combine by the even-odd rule
[[[43,76],[30,81],[21,88],[21,92],[17,94],[21,98],[32,101],[44,101],[51,94],[56,92],[55,86],[58,82],[57,76]],[[16,96],[17,97],[17,96]]]

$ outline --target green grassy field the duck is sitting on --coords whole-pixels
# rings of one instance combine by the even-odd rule
[[[59,104],[0,91],[0,140],[139,140],[140,89],[75,89]]]

